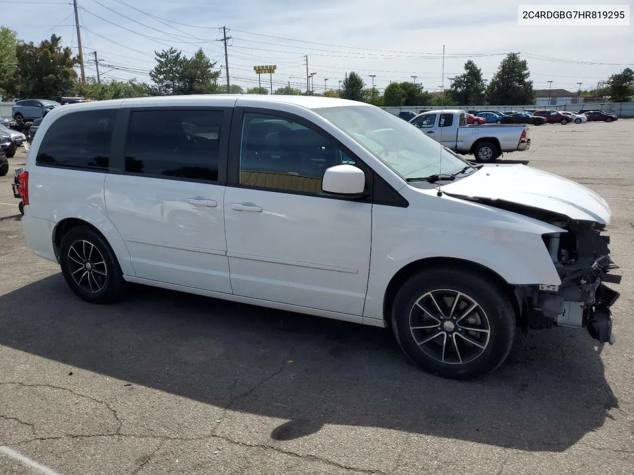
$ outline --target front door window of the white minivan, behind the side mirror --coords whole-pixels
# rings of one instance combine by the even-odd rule
[[[240,184],[321,193],[327,168],[356,161],[299,122],[246,113],[240,145]]]

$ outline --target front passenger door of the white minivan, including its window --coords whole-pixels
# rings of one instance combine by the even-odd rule
[[[235,120],[224,196],[233,293],[362,315],[372,204],[321,191],[326,168],[358,159],[301,118],[246,110]]]

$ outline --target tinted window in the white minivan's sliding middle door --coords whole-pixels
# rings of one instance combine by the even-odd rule
[[[126,172],[217,181],[223,111],[133,111]]]

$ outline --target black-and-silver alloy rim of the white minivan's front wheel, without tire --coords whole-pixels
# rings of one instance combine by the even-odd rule
[[[467,364],[484,353],[491,327],[481,305],[465,293],[437,289],[410,310],[411,336],[422,352],[443,364]]]

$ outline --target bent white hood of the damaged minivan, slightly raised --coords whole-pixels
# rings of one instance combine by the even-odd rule
[[[612,217],[607,202],[594,191],[526,165],[484,165],[474,174],[444,185],[443,191],[469,198],[510,201],[573,220],[609,224]]]

